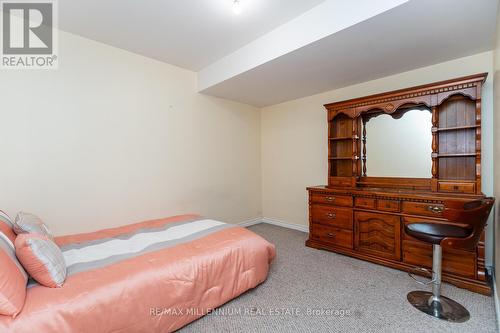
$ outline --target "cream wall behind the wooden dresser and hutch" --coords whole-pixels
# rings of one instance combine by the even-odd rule
[[[485,52],[322,94],[261,111],[262,209],[267,218],[307,225],[305,188],[327,182],[327,121],[323,104],[489,72],[483,90],[483,192],[493,194],[493,52]],[[369,163],[369,162],[368,162]],[[488,226],[487,265],[492,258]]]

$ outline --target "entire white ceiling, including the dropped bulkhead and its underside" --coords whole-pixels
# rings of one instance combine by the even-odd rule
[[[498,0],[86,0],[62,30],[198,72],[263,107],[491,50]]]

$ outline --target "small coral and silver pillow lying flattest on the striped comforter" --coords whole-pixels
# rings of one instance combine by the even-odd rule
[[[20,234],[16,255],[28,274],[41,285],[59,288],[66,280],[66,262],[61,249],[45,235]]]

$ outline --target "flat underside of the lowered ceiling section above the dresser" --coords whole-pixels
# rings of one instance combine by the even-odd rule
[[[411,0],[203,92],[263,107],[492,50],[496,8]]]

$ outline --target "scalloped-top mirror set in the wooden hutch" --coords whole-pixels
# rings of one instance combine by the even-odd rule
[[[432,114],[429,109],[412,108],[392,115],[367,114],[363,124],[366,159],[362,158],[362,163],[366,176],[432,177]]]

